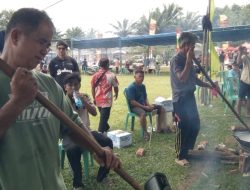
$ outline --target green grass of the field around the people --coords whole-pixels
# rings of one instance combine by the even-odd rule
[[[124,129],[124,120],[127,113],[127,105],[123,96],[123,89],[134,81],[133,75],[118,75],[119,80],[119,97],[117,101],[114,101],[109,123],[112,126],[112,130]],[[82,92],[90,94],[90,80],[91,77],[87,75],[82,76]],[[168,73],[163,73],[161,76],[146,75],[144,84],[146,85],[148,98],[150,102],[153,102],[157,96],[170,97],[171,87]],[[227,115],[223,115],[224,104],[218,98],[213,100],[213,107],[199,106],[201,117],[201,131],[199,133],[197,142],[200,140],[208,140],[209,148],[213,149],[218,143],[223,142],[229,147],[235,147],[235,141],[232,137],[230,126],[237,124],[238,121],[228,111]],[[91,128],[97,129],[99,122],[99,115],[91,117]],[[133,143],[132,146],[122,149],[114,149],[116,153],[120,155],[123,163],[123,168],[130,174],[136,181],[142,186],[147,181],[150,174],[154,172],[162,172],[167,175],[167,178],[172,186],[173,190],[186,189],[183,186],[186,179],[189,178],[189,174],[193,172],[193,169],[200,163],[198,161],[192,161],[192,167],[183,168],[174,163],[175,151],[174,151],[174,134],[155,134],[152,135],[152,141],[149,144],[144,142],[140,138],[140,128],[138,119],[135,122],[135,131],[132,133]],[[146,150],[146,155],[142,158],[138,158],[135,155],[135,151],[143,147]],[[67,162],[67,161],[66,161]],[[68,167],[68,163],[65,163],[65,169],[63,170],[63,176],[68,189],[72,189],[71,185],[71,171]],[[246,180],[241,174],[228,174],[229,170],[235,169],[238,166],[225,166],[220,163],[206,162],[202,165],[203,172],[206,173],[209,178],[204,177],[200,173],[195,180],[192,180],[188,189],[249,189],[250,180]],[[95,176],[98,169],[98,165],[95,164],[94,168],[90,168],[90,177],[84,179],[86,189],[113,189],[113,190],[126,190],[132,189],[124,180],[122,180],[113,171],[110,172],[110,178],[113,180],[114,185],[109,188],[96,183]],[[211,183],[208,185],[208,183]],[[240,184],[240,185],[239,185]],[[219,185],[219,186],[218,186]]]

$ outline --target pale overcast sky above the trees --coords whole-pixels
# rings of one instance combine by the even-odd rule
[[[246,5],[250,0],[214,0],[216,7],[232,4]],[[105,33],[111,31],[110,24],[128,19],[137,21],[142,15],[156,7],[170,3],[178,4],[184,11],[206,14],[208,0],[0,0],[0,12],[4,9],[17,10],[23,7],[44,9],[52,18],[58,31],[65,32],[72,27],[83,31],[94,28]],[[108,35],[106,33],[106,35]]]

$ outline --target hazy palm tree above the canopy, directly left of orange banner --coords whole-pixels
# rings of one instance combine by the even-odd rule
[[[128,19],[123,19],[121,22],[117,21],[115,24],[110,24],[115,31],[111,32],[119,37],[126,37],[128,35],[134,34],[135,23],[130,23]]]

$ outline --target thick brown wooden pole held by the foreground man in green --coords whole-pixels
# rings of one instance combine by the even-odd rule
[[[15,70],[11,68],[5,61],[0,59],[0,70],[2,70],[10,78],[14,75]],[[105,160],[105,153],[102,147],[89,135],[89,133],[84,128],[80,128],[75,124],[64,112],[62,112],[55,104],[44,97],[41,92],[37,93],[36,100],[41,103],[45,108],[47,108],[54,116],[56,116],[60,121],[62,121],[66,126],[68,126],[72,132],[78,135],[79,139],[82,139],[89,150],[95,152],[96,155]],[[131,176],[129,176],[121,167],[114,170],[119,174],[126,182],[128,182],[134,189],[142,190],[142,187],[137,181],[135,181]]]

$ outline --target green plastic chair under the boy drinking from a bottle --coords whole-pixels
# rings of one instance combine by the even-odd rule
[[[59,146],[59,154],[60,154],[60,166],[61,166],[61,169],[64,169],[65,150],[63,148],[62,142],[59,142],[58,146]],[[89,177],[89,161],[91,163],[91,166],[94,166],[93,155],[89,151],[84,150],[82,152],[82,156],[83,156],[83,162],[84,162],[84,175],[86,178],[88,178]]]

